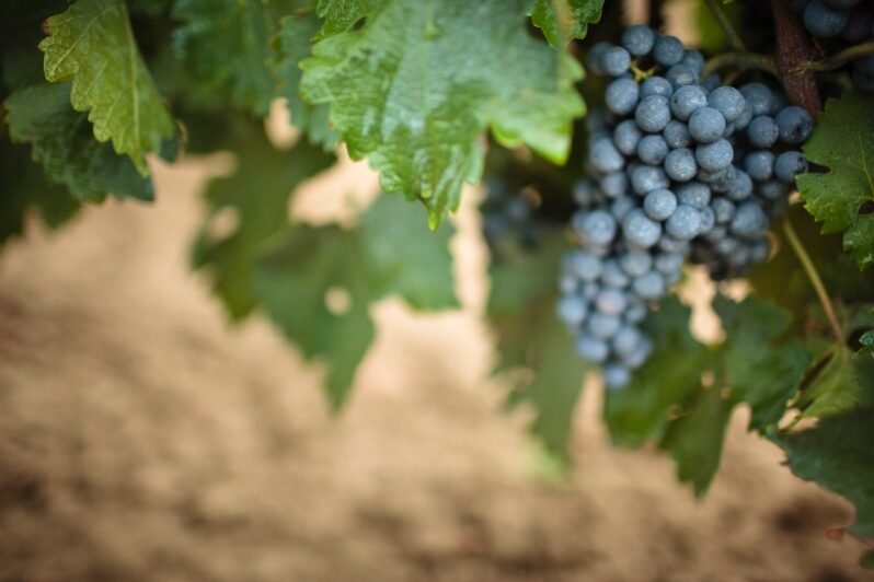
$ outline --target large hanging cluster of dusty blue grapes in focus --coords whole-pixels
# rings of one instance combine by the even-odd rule
[[[620,388],[652,352],[640,323],[685,259],[726,278],[768,257],[813,119],[761,83],[699,83],[701,53],[643,25],[619,46],[595,45],[588,65],[612,80],[587,119],[571,222],[582,248],[565,257],[557,311],[580,357]]]

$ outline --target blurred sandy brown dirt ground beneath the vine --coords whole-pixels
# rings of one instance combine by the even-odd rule
[[[860,544],[825,534],[850,508],[792,477],[744,411],[702,502],[664,456],[609,449],[597,386],[570,481],[537,479],[525,414],[498,414],[487,380],[470,208],[453,243],[464,309],[378,305],[332,420],[319,365],[261,318],[229,327],[187,269],[215,167],[160,168],[153,208],[90,209],[2,251],[0,580],[865,579]],[[372,185],[360,166],[335,178],[299,210]]]

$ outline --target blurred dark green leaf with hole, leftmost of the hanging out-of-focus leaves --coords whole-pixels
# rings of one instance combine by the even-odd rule
[[[231,318],[241,319],[257,304],[252,269],[258,249],[285,231],[292,190],[330,167],[334,156],[303,140],[290,151],[277,150],[260,124],[231,123],[237,170],[210,182],[206,190],[209,218],[194,243],[192,265],[210,272],[214,292]],[[235,222],[233,230],[216,233],[222,220]]]

